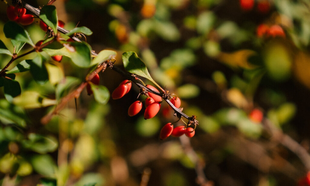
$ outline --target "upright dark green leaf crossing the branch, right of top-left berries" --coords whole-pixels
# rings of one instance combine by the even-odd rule
[[[55,34],[57,33],[58,18],[55,6],[46,5],[42,7],[39,18],[51,27]]]

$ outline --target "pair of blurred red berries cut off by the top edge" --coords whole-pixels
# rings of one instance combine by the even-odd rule
[[[250,11],[254,7],[254,0],[240,0],[240,7],[244,11]],[[267,13],[270,10],[270,2],[269,0],[260,0],[257,2],[257,10],[260,13]]]

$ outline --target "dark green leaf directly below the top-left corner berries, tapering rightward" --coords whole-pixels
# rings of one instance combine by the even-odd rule
[[[34,47],[34,44],[29,37],[29,33],[14,21],[8,21],[6,24],[4,24],[3,32],[6,38],[26,42]]]

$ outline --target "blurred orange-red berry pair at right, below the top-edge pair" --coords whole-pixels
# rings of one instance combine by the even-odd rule
[[[260,24],[256,29],[256,35],[259,38],[262,37],[283,37],[285,38],[285,32],[278,24],[268,26],[267,24]]]

